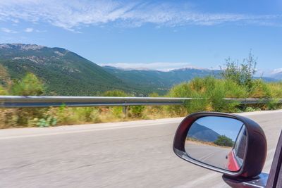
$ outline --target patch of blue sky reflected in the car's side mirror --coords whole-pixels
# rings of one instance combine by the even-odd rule
[[[196,122],[200,125],[208,127],[211,130],[214,130],[221,135],[226,135],[226,137],[231,138],[233,141],[235,141],[240,128],[243,125],[243,123],[239,120],[216,116],[207,116],[200,118]]]

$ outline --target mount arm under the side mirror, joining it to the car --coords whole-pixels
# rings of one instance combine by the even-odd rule
[[[260,175],[257,175],[257,177],[251,178],[222,175],[224,182],[233,188],[265,188],[268,177],[269,175],[267,173],[261,173]]]

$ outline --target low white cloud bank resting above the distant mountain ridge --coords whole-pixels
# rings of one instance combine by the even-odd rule
[[[191,63],[181,62],[155,62],[155,63],[99,63],[102,66],[113,66],[116,68],[137,69],[137,70],[161,70],[168,71],[178,68],[196,68]]]

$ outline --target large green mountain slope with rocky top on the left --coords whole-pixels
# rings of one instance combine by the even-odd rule
[[[93,96],[111,89],[142,92],[92,61],[62,48],[0,44],[0,65],[11,79],[34,73],[47,85],[47,94]]]

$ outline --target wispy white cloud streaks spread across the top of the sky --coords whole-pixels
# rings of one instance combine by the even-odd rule
[[[83,25],[139,27],[155,25],[218,25],[246,23],[281,25],[282,15],[245,15],[234,13],[201,13],[190,6],[149,4],[142,1],[78,1],[78,0],[1,0],[0,20],[47,22],[56,27],[75,31]]]

